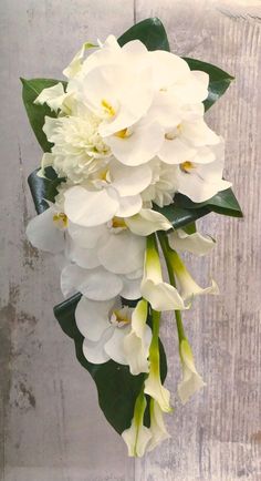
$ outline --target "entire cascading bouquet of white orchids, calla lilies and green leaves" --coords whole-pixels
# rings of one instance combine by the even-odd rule
[[[62,255],[61,289],[72,297],[54,315],[74,339],[108,422],[128,454],[142,457],[169,437],[161,313],[176,317],[181,402],[205,386],[181,311],[218,287],[200,287],[180,254],[201,256],[215,246],[197,218],[242,216],[222,178],[223,139],[205,121],[232,76],[170,53],[158,19],[118,40],[84,43],[63,73],[66,82],[22,79],[44,151],[29,177],[39,215],[27,235]]]

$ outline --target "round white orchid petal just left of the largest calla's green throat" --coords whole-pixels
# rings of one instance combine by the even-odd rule
[[[98,259],[109,272],[128,274],[140,269],[144,263],[145,239],[128,231],[112,234],[98,248]]]

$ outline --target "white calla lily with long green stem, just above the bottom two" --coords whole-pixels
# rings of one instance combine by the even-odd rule
[[[166,389],[160,379],[160,362],[159,362],[159,332],[160,314],[153,311],[153,339],[149,347],[149,373],[144,383],[144,392],[155,399],[161,411],[170,412],[170,392]]]

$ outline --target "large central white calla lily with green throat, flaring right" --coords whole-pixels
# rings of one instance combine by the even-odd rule
[[[184,300],[177,289],[163,280],[161,266],[154,235],[147,237],[140,291],[155,310],[185,309]]]

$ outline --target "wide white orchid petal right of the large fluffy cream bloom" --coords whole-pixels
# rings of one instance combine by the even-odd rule
[[[164,142],[164,130],[158,122],[140,123],[124,137],[112,135],[106,139],[115,157],[124,165],[137,166],[150,161]]]

